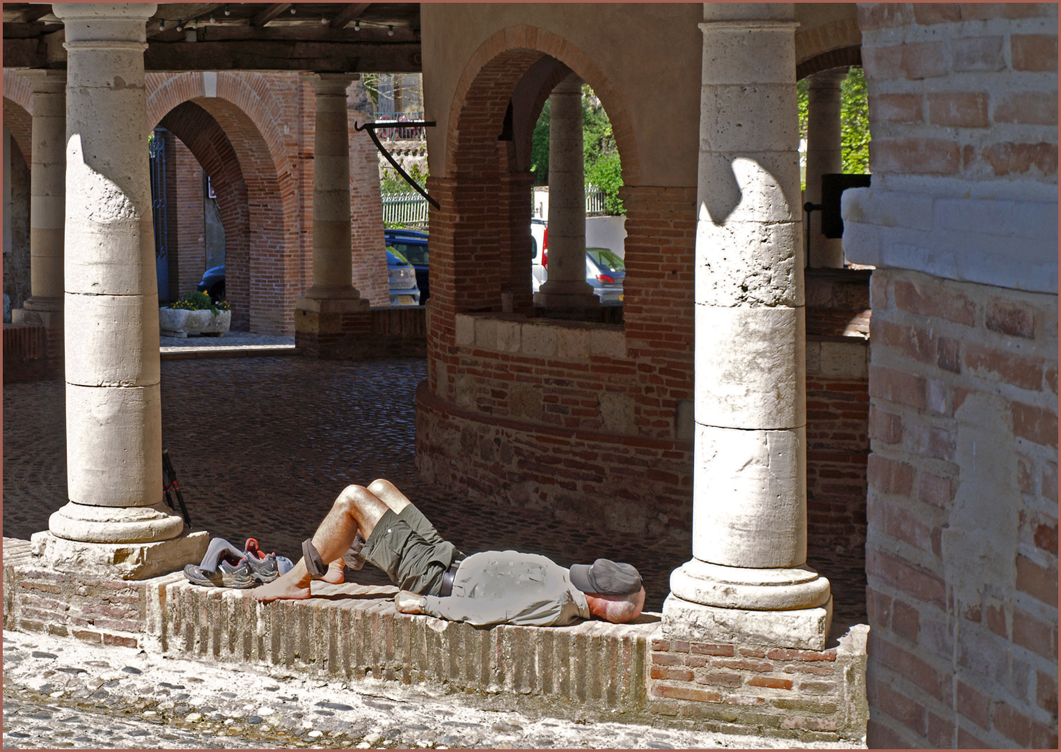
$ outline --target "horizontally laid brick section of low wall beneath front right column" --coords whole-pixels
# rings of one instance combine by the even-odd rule
[[[820,651],[654,640],[648,707],[710,731],[865,744],[868,632]]]

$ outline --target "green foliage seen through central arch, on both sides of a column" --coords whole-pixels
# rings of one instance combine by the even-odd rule
[[[534,173],[536,186],[549,185],[549,121],[550,106],[546,100],[530,136],[530,172]],[[611,122],[588,85],[582,86],[582,154],[586,158],[586,182],[604,191],[605,211],[609,214],[625,214],[626,209],[619,197],[619,189],[623,187],[623,169]]]

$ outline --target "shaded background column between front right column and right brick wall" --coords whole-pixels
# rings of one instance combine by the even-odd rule
[[[848,69],[834,69],[810,76],[806,101],[806,192],[804,200],[821,204],[821,176],[843,172],[840,153],[840,85]],[[843,268],[843,245],[839,238],[821,234],[821,212],[811,214],[811,266]]]

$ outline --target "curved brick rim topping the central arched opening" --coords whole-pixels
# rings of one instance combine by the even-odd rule
[[[472,138],[472,132],[493,130],[494,137],[501,133],[508,97],[526,70],[542,55],[551,55],[563,63],[593,89],[611,121],[624,181],[638,185],[640,161],[637,140],[615,87],[580,49],[557,34],[530,25],[509,27],[497,32],[480,46],[465,67],[450,110],[445,174],[452,176],[463,167],[470,167],[470,155],[457,157],[457,152],[465,139]],[[499,99],[503,101],[499,102]],[[497,113],[499,106],[500,118]],[[485,123],[480,120],[484,116],[488,118]],[[468,120],[462,127],[464,118]]]

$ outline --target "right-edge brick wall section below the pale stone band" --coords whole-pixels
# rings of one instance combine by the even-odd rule
[[[873,275],[871,741],[1057,746],[1057,298]]]

